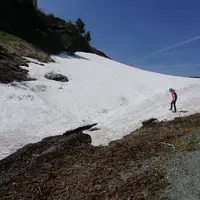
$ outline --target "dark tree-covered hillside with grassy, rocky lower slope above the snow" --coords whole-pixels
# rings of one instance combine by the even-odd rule
[[[28,68],[20,68],[29,66],[24,56],[43,63],[53,62],[51,55],[64,51],[109,58],[90,45],[91,34],[80,18],[72,23],[45,14],[37,7],[37,0],[1,0],[0,19],[0,83],[33,80],[28,77]]]

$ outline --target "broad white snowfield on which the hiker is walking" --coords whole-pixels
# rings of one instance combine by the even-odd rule
[[[0,85],[0,159],[21,146],[64,133],[87,123],[94,145],[107,145],[141,126],[150,117],[172,119],[200,110],[200,79],[173,77],[93,54],[62,54],[56,63],[30,64],[37,81]],[[47,72],[66,75],[69,82],[47,80]],[[168,88],[175,88],[179,111],[171,113]]]

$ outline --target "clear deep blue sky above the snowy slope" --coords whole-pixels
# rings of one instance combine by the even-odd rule
[[[114,60],[150,71],[200,76],[199,0],[38,0],[38,4],[65,20],[81,17],[92,45]]]

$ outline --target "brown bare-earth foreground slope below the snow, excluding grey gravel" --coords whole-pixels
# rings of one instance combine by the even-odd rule
[[[44,139],[0,161],[0,199],[162,199],[166,158],[195,151],[198,129],[195,114],[144,126],[107,147],[93,147],[80,129]]]

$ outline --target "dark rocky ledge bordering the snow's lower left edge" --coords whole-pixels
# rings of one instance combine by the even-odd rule
[[[84,134],[96,124],[86,125],[74,130],[69,130],[63,135],[44,138],[35,144],[28,144],[17,150],[14,154],[0,161],[0,185],[12,181],[25,171],[37,165],[51,161],[63,152],[71,152],[81,145],[90,145],[91,137]]]

